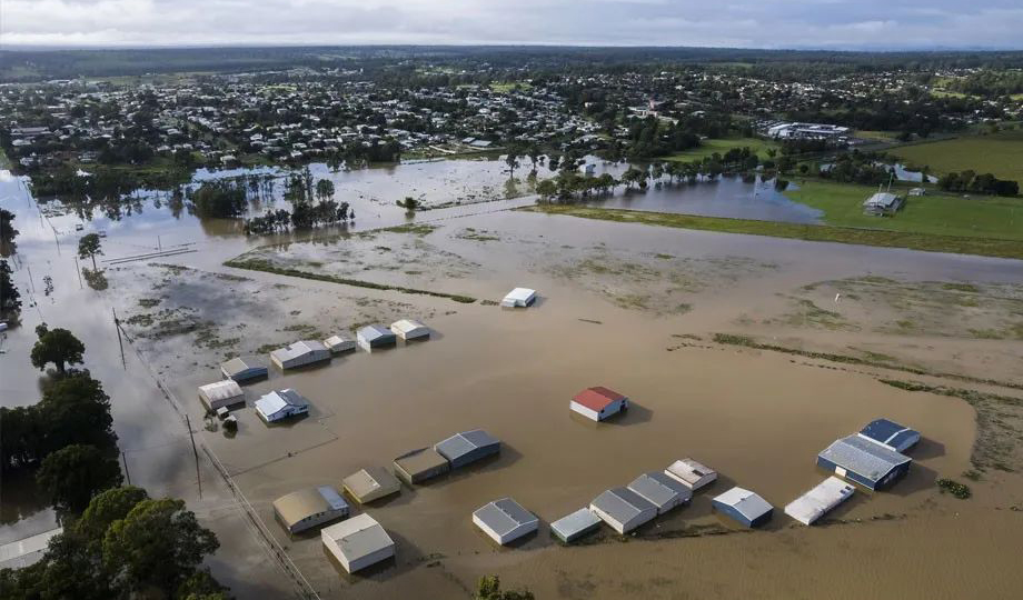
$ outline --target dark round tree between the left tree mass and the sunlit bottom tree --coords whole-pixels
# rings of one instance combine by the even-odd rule
[[[78,513],[98,492],[120,486],[121,469],[95,446],[76,443],[43,459],[36,480],[58,510]]]

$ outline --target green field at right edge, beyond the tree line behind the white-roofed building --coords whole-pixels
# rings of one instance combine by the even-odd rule
[[[1023,130],[903,146],[890,152],[903,162],[926,164],[932,172],[973,169],[977,173],[1014,179],[1023,186]]]

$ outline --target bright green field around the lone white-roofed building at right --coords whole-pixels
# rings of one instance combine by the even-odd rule
[[[907,188],[903,183],[898,192]],[[872,186],[811,180],[785,196],[823,210],[831,226],[1023,241],[1023,199],[930,194],[908,198],[895,217],[870,217],[862,204],[875,191]]]

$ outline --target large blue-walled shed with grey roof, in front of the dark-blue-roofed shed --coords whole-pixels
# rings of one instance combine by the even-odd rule
[[[910,457],[858,433],[835,440],[817,454],[818,467],[868,490],[890,488],[910,471],[911,462]]]

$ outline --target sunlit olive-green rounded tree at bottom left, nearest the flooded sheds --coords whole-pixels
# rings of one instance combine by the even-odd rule
[[[199,524],[183,500],[142,500],[107,530],[103,564],[117,573],[115,584],[127,591],[156,588],[171,594],[219,547],[217,536]]]

